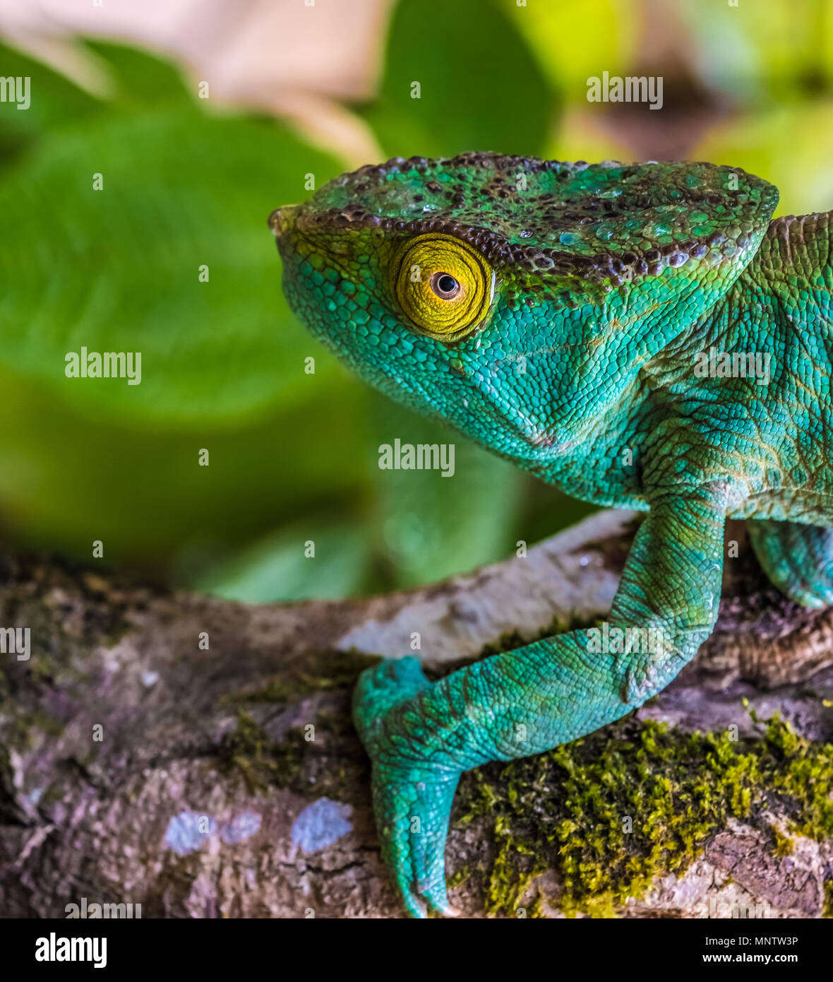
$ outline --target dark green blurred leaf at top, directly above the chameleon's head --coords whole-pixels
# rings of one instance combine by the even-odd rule
[[[400,0],[365,117],[391,156],[536,155],[553,103],[546,76],[491,0]]]

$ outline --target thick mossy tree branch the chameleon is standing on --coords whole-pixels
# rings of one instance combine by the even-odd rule
[[[0,626],[29,627],[31,652],[0,655],[0,914],[86,898],[144,917],[397,915],[355,678],[377,653],[442,674],[603,617],[633,520],[600,513],[523,559],[343,603],[249,607],[7,555]],[[829,908],[833,612],[788,603],[743,526],[728,537],[718,628],[676,682],[599,734],[464,778],[447,851],[464,913]]]

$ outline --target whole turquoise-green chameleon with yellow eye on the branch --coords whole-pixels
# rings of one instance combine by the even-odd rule
[[[571,495],[648,512],[599,650],[574,630],[429,682],[356,688],[384,858],[414,916],[444,880],[463,771],[642,705],[717,617],[727,517],[785,594],[833,602],[830,214],[771,221],[738,168],[467,153],[394,158],[270,218],[286,298],[368,382]],[[750,373],[703,353],[769,355]],[[626,451],[630,451],[626,454]],[[610,647],[617,647],[611,645]]]

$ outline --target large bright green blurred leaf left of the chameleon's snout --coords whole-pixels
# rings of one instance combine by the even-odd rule
[[[303,398],[311,343],[266,219],[307,174],[340,169],[276,123],[195,102],[117,105],[42,136],[0,188],[14,230],[0,243],[0,367],[88,412],[166,426]],[[81,348],[140,353],[141,383],[67,378]]]

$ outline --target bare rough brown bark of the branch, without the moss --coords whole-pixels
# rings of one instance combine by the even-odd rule
[[[525,558],[340,603],[246,606],[4,557],[0,626],[29,627],[31,653],[0,656],[0,913],[64,916],[86,898],[140,903],[143,917],[398,915],[349,720],[356,675],[376,653],[414,653],[414,631],[427,668],[446,671],[506,632],[603,616],[632,532],[633,516],[599,513]],[[829,740],[833,609],[786,601],[750,559],[743,525],[728,537],[741,557],[727,562],[717,630],[638,716],[720,730],[738,723],[744,696]],[[774,855],[767,830],[788,819],[776,807],[728,821],[682,877],[658,878],[619,912],[697,916],[737,900],[819,916],[833,852],[800,837]],[[454,824],[449,872],[488,870],[493,842],[482,820]],[[555,856],[538,882],[558,916]],[[484,914],[477,877],[452,896]]]

